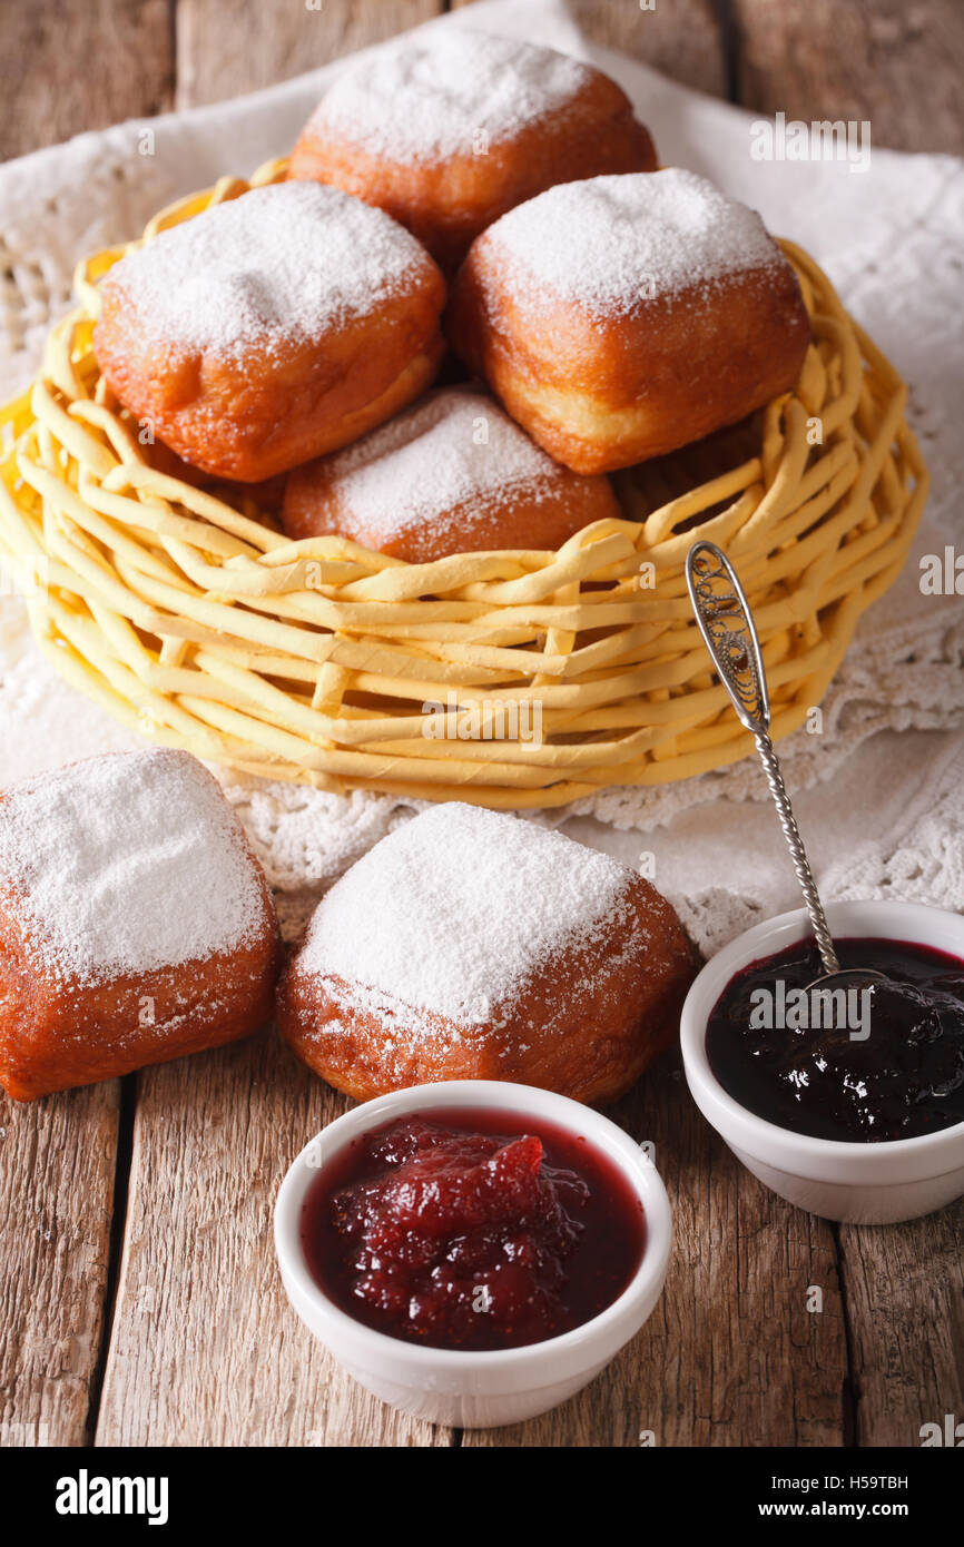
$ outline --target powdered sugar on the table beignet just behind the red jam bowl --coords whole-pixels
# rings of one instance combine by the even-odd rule
[[[460,1026],[504,1019],[520,985],[605,939],[631,871],[559,832],[452,801],[382,838],[319,903],[297,965]],[[419,1013],[421,1012],[421,1013]],[[500,1013],[501,1012],[501,1013]]]

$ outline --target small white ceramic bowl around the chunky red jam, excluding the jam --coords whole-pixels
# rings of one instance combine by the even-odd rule
[[[302,1205],[319,1168],[345,1145],[393,1118],[438,1109],[486,1111],[552,1123],[583,1135],[630,1182],[645,1213],[645,1248],[619,1299],[562,1337],[518,1349],[475,1354],[430,1349],[373,1332],[340,1310],[316,1284],[299,1238]],[[653,1162],[628,1134],[599,1112],[551,1091],[497,1080],[452,1080],[395,1091],[330,1123],[288,1171],[274,1210],[274,1241],[288,1299],[325,1347],[382,1402],[460,1428],[494,1428],[535,1417],[565,1402],[630,1341],[651,1313],[670,1259],[670,1202]]]

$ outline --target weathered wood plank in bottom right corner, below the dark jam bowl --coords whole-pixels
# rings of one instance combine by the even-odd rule
[[[859,1445],[964,1422],[964,1202],[907,1225],[840,1225]]]

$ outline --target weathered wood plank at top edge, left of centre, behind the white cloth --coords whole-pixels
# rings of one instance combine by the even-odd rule
[[[178,0],[176,105],[218,102],[429,22],[441,0]]]

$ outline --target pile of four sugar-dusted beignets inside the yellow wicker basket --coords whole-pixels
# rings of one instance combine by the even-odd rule
[[[803,365],[800,286],[760,217],[655,169],[600,71],[430,28],[336,80],[288,181],[108,271],[97,364],[155,466],[172,452],[227,500],[257,484],[296,540],[407,563],[555,549],[620,517],[600,475],[743,419]],[[492,398],[424,396],[446,302]]]

